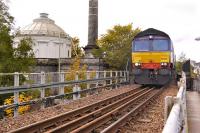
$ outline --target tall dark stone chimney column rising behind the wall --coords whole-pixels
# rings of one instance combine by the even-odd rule
[[[92,49],[98,48],[98,0],[89,0],[88,44],[84,48],[86,57],[92,57]]]

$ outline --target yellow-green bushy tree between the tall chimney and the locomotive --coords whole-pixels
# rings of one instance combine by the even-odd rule
[[[102,53],[105,52],[104,62],[110,68],[125,69],[126,63],[131,57],[131,41],[139,32],[140,29],[133,29],[132,24],[114,26],[97,41],[99,49],[93,51],[94,56],[102,58]]]

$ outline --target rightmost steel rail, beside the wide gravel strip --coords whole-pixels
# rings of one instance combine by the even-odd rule
[[[123,125],[126,124],[127,121],[130,121],[132,119],[132,116],[135,112],[137,112],[139,109],[142,107],[146,106],[152,99],[154,99],[156,96],[158,96],[162,90],[157,91],[154,93],[152,96],[150,96],[148,99],[146,99],[144,102],[136,106],[133,110],[131,110],[129,113],[115,121],[112,125],[109,127],[105,128],[101,133],[115,133],[118,131],[119,127],[122,127]]]

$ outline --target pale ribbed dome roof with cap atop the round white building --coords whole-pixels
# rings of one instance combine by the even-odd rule
[[[57,26],[54,20],[48,18],[47,13],[40,13],[40,17],[33,20],[32,24],[29,24],[20,29],[20,36],[49,36],[49,37],[61,37],[68,38],[69,35],[65,31]]]

